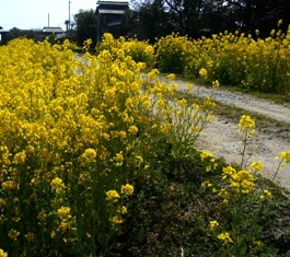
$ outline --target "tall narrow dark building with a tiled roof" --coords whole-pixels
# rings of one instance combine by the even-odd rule
[[[124,14],[128,8],[128,1],[96,2],[97,43],[102,40],[104,33],[111,33],[115,38],[124,36]]]

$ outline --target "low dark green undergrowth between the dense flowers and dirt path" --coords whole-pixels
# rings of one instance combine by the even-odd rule
[[[208,163],[199,152],[174,159],[161,141],[155,162],[159,168],[136,185],[134,206],[115,243],[121,256],[290,256],[289,192],[257,176],[256,187],[268,188],[272,197],[259,205],[245,196],[233,208],[201,187],[205,180],[224,184],[223,160],[216,160],[214,172],[205,173]],[[237,210],[239,215],[233,213]],[[228,230],[239,230],[241,242],[222,243],[209,229],[214,217]],[[236,223],[239,229],[233,227]],[[236,246],[244,252],[236,253]]]

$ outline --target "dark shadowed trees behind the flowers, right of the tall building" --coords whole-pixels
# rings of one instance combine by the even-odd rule
[[[258,30],[265,38],[279,20],[283,32],[290,23],[289,0],[134,0],[131,5],[128,31],[151,40],[172,32],[197,38],[225,30]]]

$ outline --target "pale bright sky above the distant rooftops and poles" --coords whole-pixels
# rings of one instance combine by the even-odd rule
[[[65,21],[73,21],[79,10],[95,10],[97,0],[0,0],[0,26],[3,31],[12,27],[37,30],[44,26],[60,26],[66,30]],[[48,19],[49,16],[49,19]]]

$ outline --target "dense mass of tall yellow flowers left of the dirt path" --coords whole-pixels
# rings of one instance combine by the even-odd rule
[[[212,116],[210,100],[189,106],[174,98],[176,85],[152,85],[156,70],[143,79],[126,44],[85,54],[89,66],[69,42],[0,48],[0,248],[9,256],[105,255],[150,168],[150,141],[166,133],[176,154],[187,151]]]

